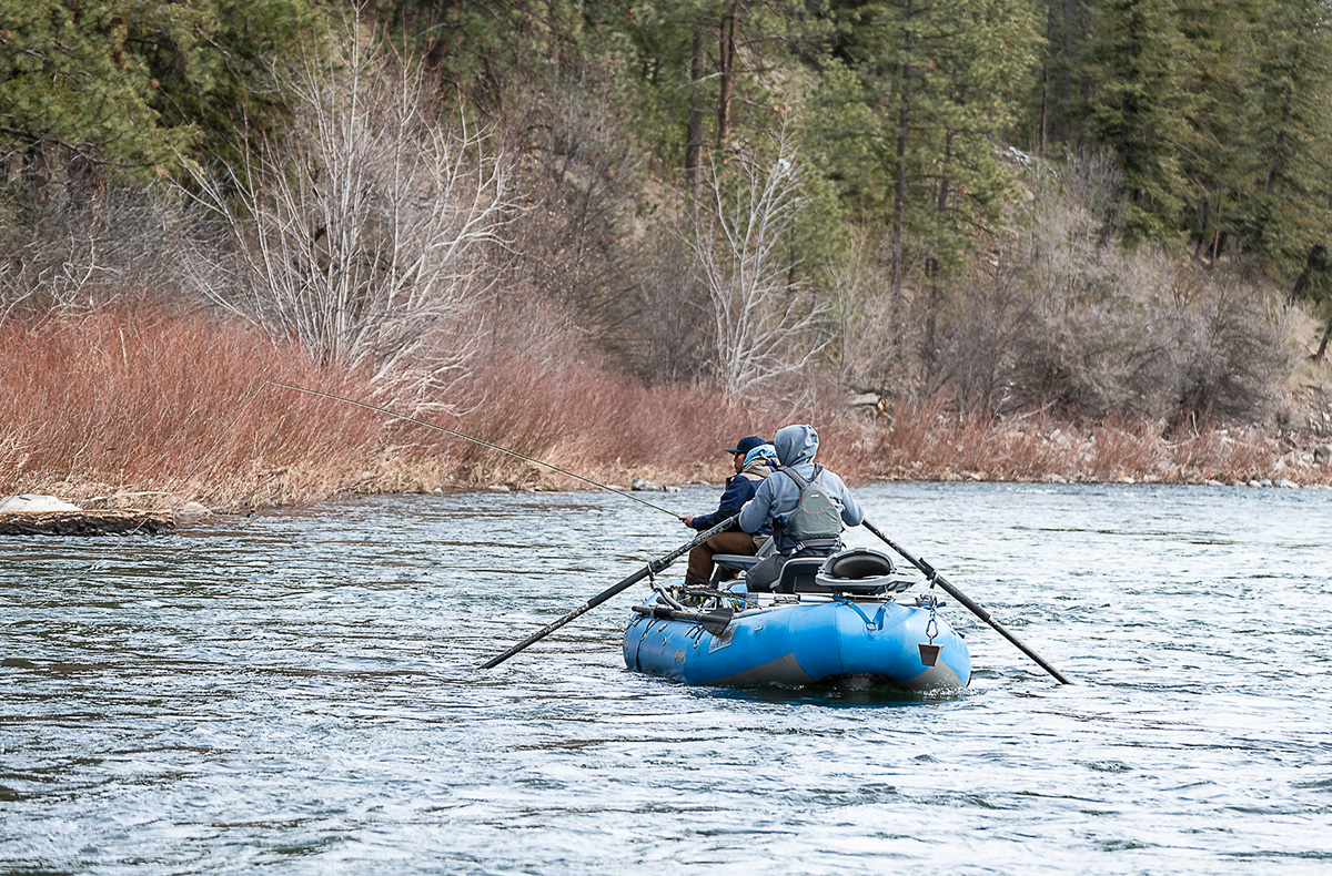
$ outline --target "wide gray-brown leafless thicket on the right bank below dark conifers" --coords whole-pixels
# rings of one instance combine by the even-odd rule
[[[1126,249],[1098,166],[1039,186],[1027,221],[968,274],[942,331],[944,385],[1000,413],[1264,417],[1292,361],[1273,302],[1237,273]]]

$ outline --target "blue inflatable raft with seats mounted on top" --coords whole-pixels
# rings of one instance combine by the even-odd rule
[[[734,566],[754,558],[717,556]],[[634,606],[625,664],[687,684],[963,688],[971,654],[934,591],[856,548],[786,563],[775,592],[658,588]]]

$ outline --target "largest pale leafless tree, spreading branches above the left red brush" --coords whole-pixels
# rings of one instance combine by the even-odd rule
[[[350,23],[330,57],[281,85],[294,118],[221,178],[196,168],[198,202],[233,258],[197,250],[204,294],[321,361],[374,381],[446,385],[468,361],[476,305],[513,204],[503,158],[465,117],[438,117],[420,65]]]

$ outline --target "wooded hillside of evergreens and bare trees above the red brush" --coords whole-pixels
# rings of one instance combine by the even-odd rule
[[[907,417],[1256,427],[1308,467],[1329,24],[1315,0],[9,0],[4,375],[40,385],[11,351],[77,331],[119,333],[124,366],[164,321],[221,343],[202,314],[585,465],[567,433],[605,398],[675,431],[859,418],[863,474]],[[0,462],[63,467],[100,442],[75,431]]]

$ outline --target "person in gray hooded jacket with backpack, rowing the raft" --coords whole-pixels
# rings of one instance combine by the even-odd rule
[[[827,556],[840,550],[836,543],[805,545],[798,542],[787,522],[791,521],[801,498],[799,481],[815,481],[838,510],[843,526],[859,526],[864,519],[864,511],[851,495],[851,491],[836,477],[823,466],[815,466],[814,454],[819,449],[819,434],[814,426],[786,426],[779,429],[773,439],[777,450],[777,459],[782,465],[771,475],[763,479],[754,498],[745,503],[739,514],[739,526],[746,533],[757,533],[769,521],[773,522],[773,538],[777,552],[749,570],[745,575],[746,586],[751,591],[770,590],[773,582],[782,575],[782,566],[791,556]],[[787,471],[790,470],[790,471]],[[791,477],[791,473],[797,477]]]

